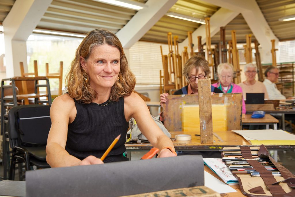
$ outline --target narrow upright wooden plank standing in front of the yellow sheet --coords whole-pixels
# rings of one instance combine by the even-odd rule
[[[198,81],[201,143],[213,142],[212,100],[210,79]]]

